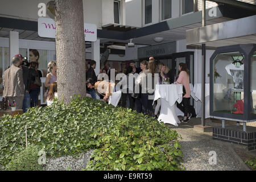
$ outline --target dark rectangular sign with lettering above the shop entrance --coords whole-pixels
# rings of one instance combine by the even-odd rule
[[[138,48],[138,59],[151,56],[164,56],[176,52],[176,42]]]

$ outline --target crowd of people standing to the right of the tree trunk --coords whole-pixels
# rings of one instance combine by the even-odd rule
[[[101,98],[104,101],[109,100],[109,96],[111,96],[115,90],[115,85],[113,81],[110,81],[110,64],[105,63],[103,69],[101,69],[100,73],[105,73],[108,75],[108,81],[98,81],[97,76],[94,72],[94,68],[96,68],[96,62],[91,61],[90,68],[86,72],[86,86],[88,93],[92,95],[93,98],[96,98],[96,90],[100,93]],[[135,78],[134,74],[138,74]],[[151,73],[152,75],[152,88],[148,88],[147,86],[142,86],[144,81],[147,82],[147,75]],[[183,111],[184,117],[181,119],[181,122],[188,122],[191,118],[191,111],[189,110],[189,99],[190,99],[190,87],[189,87],[189,71],[187,68],[187,64],[180,63],[179,64],[179,73],[176,76],[174,71],[168,68],[163,63],[158,63],[154,59],[154,57],[150,57],[149,60],[143,60],[140,63],[140,68],[135,67],[135,61],[130,61],[129,66],[126,68],[125,76],[123,76],[120,82],[125,81],[126,84],[122,84],[122,96],[121,96],[121,106],[128,107],[129,109],[136,110],[138,113],[143,113],[150,115],[152,117],[159,116],[160,109],[160,99],[156,101],[155,108],[153,109],[153,99],[154,89],[155,89],[155,73],[158,73],[156,78],[158,80],[158,84],[182,84],[183,85],[183,100],[179,104],[177,103],[177,107]],[[131,78],[130,78],[131,77]],[[130,79],[133,80],[133,85],[127,84]],[[102,83],[102,86],[105,88],[105,92],[100,92],[98,89],[98,85]],[[104,84],[103,84],[104,83]],[[139,92],[135,93],[135,85],[139,85]],[[109,92],[110,89],[112,92]],[[103,89],[104,90],[104,89]],[[126,92],[124,92],[126,90]]]

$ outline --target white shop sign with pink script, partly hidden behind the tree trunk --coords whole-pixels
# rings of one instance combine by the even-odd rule
[[[55,20],[51,18],[38,18],[38,35],[43,38],[55,38]],[[96,42],[96,24],[84,23],[85,41]]]

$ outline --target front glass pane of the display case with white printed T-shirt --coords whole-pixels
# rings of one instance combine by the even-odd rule
[[[244,56],[219,53],[213,61],[213,111],[243,114]]]

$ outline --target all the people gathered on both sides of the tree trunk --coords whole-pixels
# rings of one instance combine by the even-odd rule
[[[16,103],[17,109],[23,109],[26,112],[30,107],[38,105],[38,96],[42,82],[40,78],[42,73],[38,70],[39,67],[39,53],[36,49],[30,50],[30,63],[25,65],[23,63],[22,55],[15,55],[11,59],[11,67],[6,69],[3,74],[3,97],[9,102]],[[90,61],[90,67],[86,71],[86,94],[94,99],[99,97],[104,101],[108,101],[109,97],[115,92],[117,82],[112,81],[111,67],[108,62],[105,63],[104,68],[100,73],[105,73],[109,80],[98,81],[98,77],[94,72],[96,68],[96,61]],[[56,62],[51,61],[48,63],[48,74],[46,76],[45,86],[47,88],[47,106],[51,105],[53,98],[57,97],[57,74]],[[157,73],[157,74],[155,74]],[[134,76],[134,74],[137,74]],[[144,86],[143,82],[148,82],[147,75],[151,74],[151,86]],[[157,77],[156,77],[157,76]],[[130,84],[132,80],[132,84]],[[157,80],[157,82],[155,81]],[[143,60],[140,63],[140,68],[135,67],[135,61],[130,61],[129,66],[126,68],[124,76],[120,82],[122,83],[121,93],[121,106],[128,107],[136,110],[138,113],[150,115],[152,117],[159,116],[160,99],[156,101],[155,108],[153,109],[153,99],[155,91],[155,84],[182,84],[183,85],[183,100],[177,107],[183,111],[184,117],[181,121],[188,122],[191,117],[189,111],[189,71],[185,63],[179,64],[179,73],[176,77],[174,71],[168,68],[163,63],[158,63],[154,57],[149,60]],[[128,84],[129,83],[129,84]],[[135,92],[138,85],[138,92]],[[97,91],[96,91],[97,90]],[[127,102],[128,101],[128,102]]]

